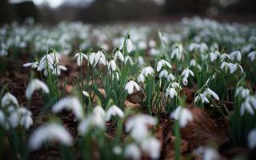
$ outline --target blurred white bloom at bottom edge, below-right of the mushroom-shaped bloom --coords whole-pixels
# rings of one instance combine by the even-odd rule
[[[150,155],[151,159],[158,159],[161,152],[161,144],[156,138],[146,138],[142,141],[142,150]]]

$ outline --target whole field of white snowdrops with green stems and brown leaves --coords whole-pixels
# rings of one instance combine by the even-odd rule
[[[256,158],[256,24],[0,28],[1,159]]]

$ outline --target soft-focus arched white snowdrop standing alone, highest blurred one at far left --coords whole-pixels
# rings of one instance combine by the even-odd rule
[[[39,79],[33,79],[30,81],[29,85],[26,88],[26,98],[30,99],[35,90],[41,89],[44,93],[49,94],[50,90],[48,86]]]

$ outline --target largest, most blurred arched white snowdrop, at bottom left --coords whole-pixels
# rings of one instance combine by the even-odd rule
[[[63,145],[71,146],[73,138],[63,126],[52,123],[40,126],[31,134],[30,149],[38,150],[45,141],[58,141]]]

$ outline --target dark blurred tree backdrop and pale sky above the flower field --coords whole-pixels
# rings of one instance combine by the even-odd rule
[[[1,0],[0,24],[61,21],[90,23],[176,21],[199,15],[218,20],[256,20],[256,0]]]

